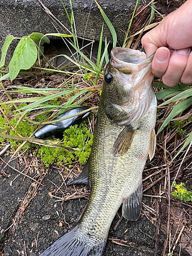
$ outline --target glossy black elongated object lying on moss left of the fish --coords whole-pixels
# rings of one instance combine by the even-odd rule
[[[63,114],[57,116],[56,118],[54,118],[52,121],[58,120],[58,119],[61,119],[61,118],[65,118],[65,117],[68,117],[68,116],[72,116],[72,115],[75,115],[75,114],[78,114],[78,113],[79,113],[79,115],[74,116],[74,117],[70,117],[70,118],[68,118],[66,120],[62,120],[60,122],[56,122],[56,123],[53,122],[51,124],[46,124],[34,133],[34,137],[38,138],[38,139],[42,139],[42,138],[45,138],[45,137],[49,137],[49,136],[52,136],[52,135],[62,133],[70,125],[78,124],[81,121],[83,121],[90,114],[90,112],[83,113],[83,114],[81,114],[81,112],[84,111],[84,110],[88,110],[89,108],[90,108],[89,106],[79,106],[78,108],[66,111],[65,113],[63,113]]]

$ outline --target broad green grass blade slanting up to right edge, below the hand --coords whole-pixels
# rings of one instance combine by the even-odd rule
[[[157,135],[164,129],[164,127],[172,120],[175,116],[186,110],[190,104],[192,103],[192,97],[178,103],[174,106],[173,110],[170,112],[170,114],[167,116],[163,124],[161,125]]]

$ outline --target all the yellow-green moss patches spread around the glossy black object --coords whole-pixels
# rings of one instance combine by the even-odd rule
[[[59,102],[52,100],[51,102],[49,102],[49,105],[50,104],[58,105]],[[19,108],[22,108],[25,105],[27,104],[20,104]],[[12,111],[12,106],[10,107],[6,104],[2,106],[4,108],[5,113],[8,113],[8,111],[9,112]],[[14,114],[17,114],[17,113],[18,112],[14,112]],[[49,115],[51,115],[50,109],[46,110],[42,114],[37,115],[36,120],[42,121],[45,118],[47,118]],[[28,116],[28,113],[26,114],[25,117],[27,116]],[[22,135],[23,137],[29,137],[30,135],[32,135],[37,125],[31,125],[31,123],[29,123],[25,119],[21,120],[17,124],[18,118],[19,116],[15,115],[10,120],[12,127],[14,127],[14,130],[15,130],[14,131],[11,129],[10,125],[8,124],[4,116],[0,115],[0,129],[3,130],[4,133],[10,134],[12,136],[18,136],[17,133]],[[15,140],[8,140],[8,141],[11,141],[11,147],[13,149],[18,148],[18,146],[23,143],[23,141],[15,141]],[[3,142],[4,142],[4,139],[0,138],[0,145]],[[61,145],[63,146],[78,148],[79,150],[74,150],[69,152],[63,148],[41,146],[38,150],[37,157],[40,157],[42,161],[46,163],[46,166],[49,166],[54,162],[56,162],[58,165],[63,163],[68,163],[70,166],[70,164],[73,161],[77,161],[77,160],[79,160],[80,163],[84,164],[86,163],[91,153],[92,142],[93,142],[93,135],[91,135],[88,127],[86,126],[86,121],[83,121],[80,125],[70,126],[69,129],[67,129],[63,133],[63,140],[61,142]],[[23,146],[24,149],[29,147],[31,148],[30,151],[32,151],[34,148],[37,148],[38,146],[30,142],[26,142],[25,145]]]

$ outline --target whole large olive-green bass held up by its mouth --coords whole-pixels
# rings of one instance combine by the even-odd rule
[[[101,256],[121,204],[125,219],[139,218],[142,171],[156,147],[153,57],[139,50],[112,49],[91,154],[82,173],[69,182],[91,187],[88,206],[72,230],[40,256]]]

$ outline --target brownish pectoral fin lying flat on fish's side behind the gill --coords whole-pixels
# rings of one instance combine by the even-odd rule
[[[114,156],[121,156],[127,152],[131,146],[135,131],[130,125],[124,127],[113,145]]]

